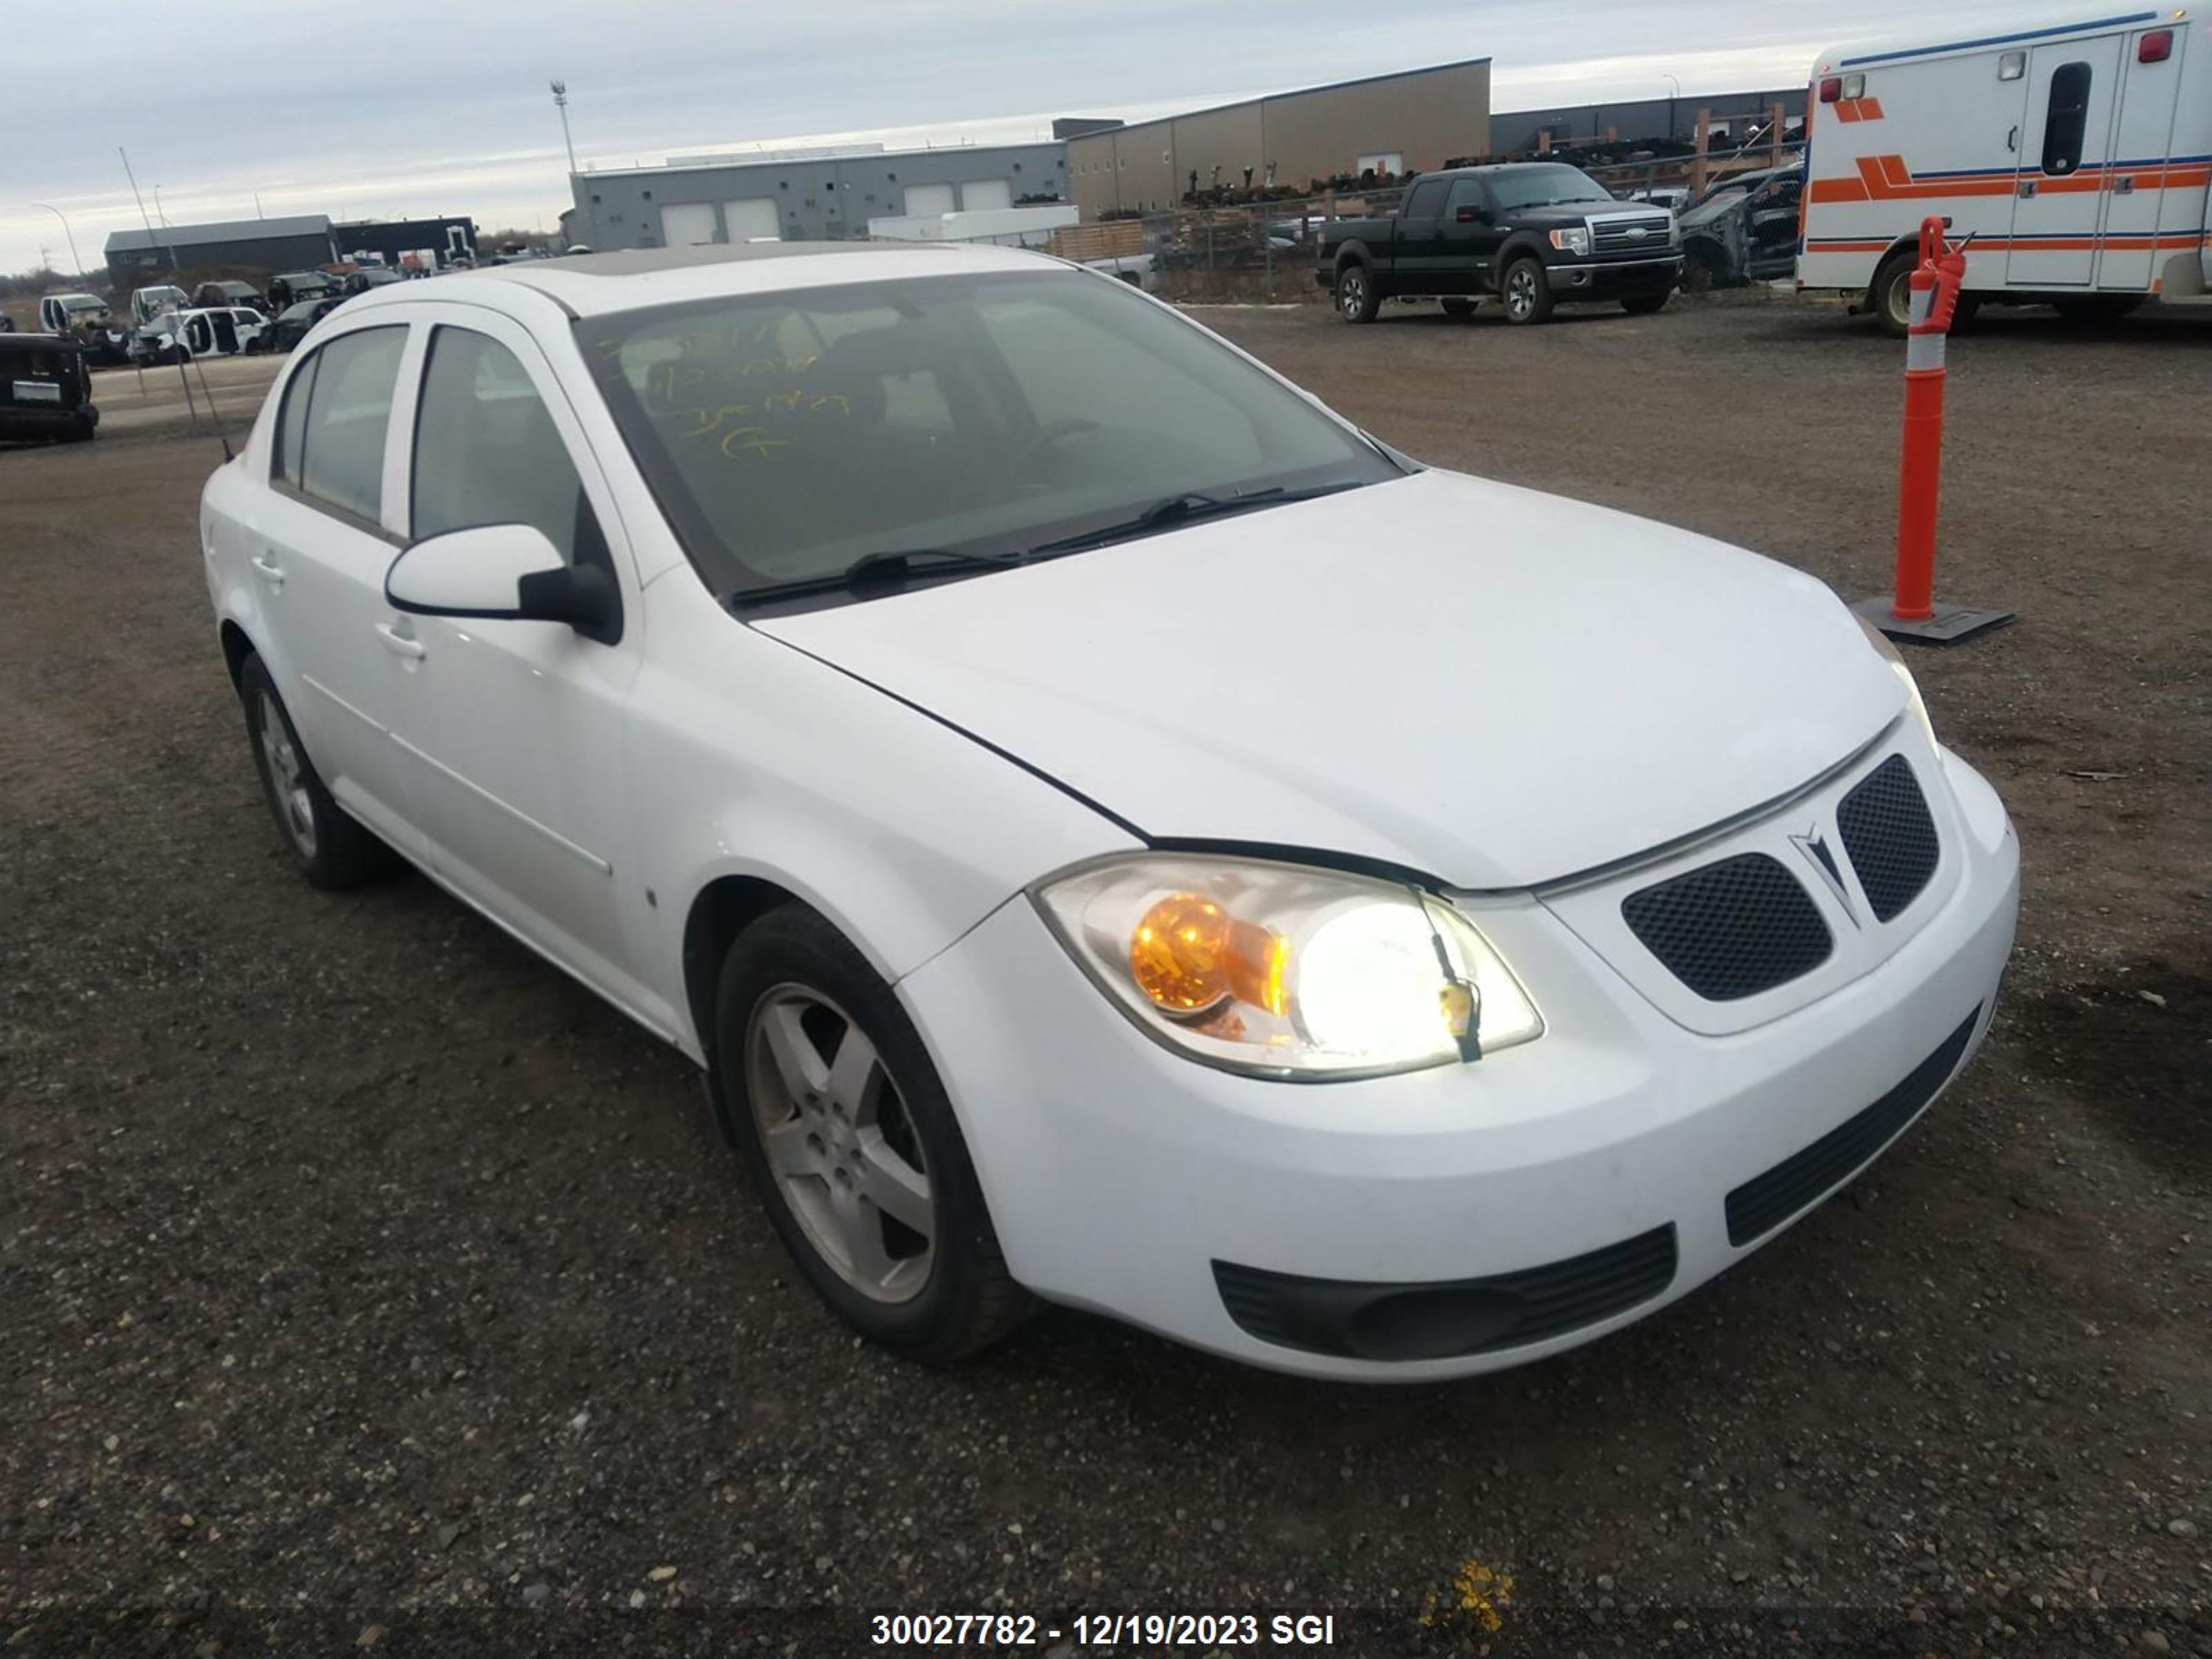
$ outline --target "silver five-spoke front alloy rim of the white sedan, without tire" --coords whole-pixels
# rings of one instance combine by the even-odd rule
[[[814,1252],[872,1301],[914,1301],[936,1256],[929,1166],[858,1022],[821,991],[774,987],[745,1022],[745,1097]]]

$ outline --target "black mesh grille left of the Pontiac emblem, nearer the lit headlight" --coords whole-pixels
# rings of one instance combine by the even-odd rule
[[[1621,900],[1621,918],[1668,971],[1708,1002],[1736,1002],[1836,949],[1805,887],[1763,852],[1692,869]]]

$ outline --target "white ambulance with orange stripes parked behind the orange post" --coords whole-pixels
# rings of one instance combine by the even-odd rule
[[[1851,49],[1814,69],[1798,288],[1843,290],[1905,332],[1920,221],[1969,232],[1960,310],[2119,316],[2212,303],[2212,38],[2135,11]]]

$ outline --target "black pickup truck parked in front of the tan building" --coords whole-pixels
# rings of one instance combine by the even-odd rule
[[[1385,299],[1467,316],[1480,294],[1498,294],[1509,323],[1582,301],[1657,312],[1681,279],[1674,215],[1615,201],[1564,161],[1425,173],[1396,215],[1332,219],[1318,243],[1314,276],[1347,323],[1371,323]]]

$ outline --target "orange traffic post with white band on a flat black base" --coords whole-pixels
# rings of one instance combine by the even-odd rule
[[[1951,336],[1951,316],[1958,310],[1958,290],[1964,281],[1966,243],[1947,248],[1942,219],[1922,219],[1920,263],[1911,276],[1911,325],[1905,334],[1905,453],[1898,465],[1896,593],[1860,599],[1851,606],[1891,639],[1916,639],[1933,646],[1951,646],[2013,619],[2011,611],[1936,604],[1944,347]]]

